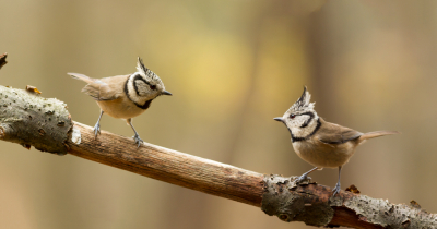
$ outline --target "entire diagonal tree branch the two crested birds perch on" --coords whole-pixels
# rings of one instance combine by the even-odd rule
[[[36,88],[35,88],[36,89]],[[297,185],[283,178],[248,171],[106,131],[95,138],[91,126],[71,121],[66,105],[35,92],[0,86],[0,140],[68,154],[141,176],[261,207],[284,221],[353,228],[437,228],[437,216],[416,203],[395,205],[328,186]]]

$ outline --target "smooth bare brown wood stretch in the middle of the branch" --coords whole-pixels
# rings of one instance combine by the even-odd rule
[[[73,138],[73,140],[72,140]],[[179,186],[260,206],[263,174],[144,143],[74,122],[69,154]]]

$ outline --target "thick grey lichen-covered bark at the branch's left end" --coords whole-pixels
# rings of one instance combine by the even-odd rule
[[[72,121],[64,103],[0,86],[0,105],[2,140],[32,145],[43,152],[67,154],[64,143]]]

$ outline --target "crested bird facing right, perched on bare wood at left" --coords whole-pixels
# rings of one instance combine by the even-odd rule
[[[82,92],[93,97],[101,116],[94,126],[94,134],[101,133],[101,119],[107,113],[116,119],[126,119],[135,135],[133,140],[138,147],[143,141],[132,125],[132,118],[143,113],[152,100],[161,95],[172,95],[165,91],[164,83],[150,69],[145,68],[141,58],[138,58],[137,72],[128,75],[117,75],[104,79],[92,79],[79,73],[68,73],[76,80],[87,83]]]

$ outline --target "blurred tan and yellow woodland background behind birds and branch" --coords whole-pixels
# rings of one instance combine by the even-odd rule
[[[152,144],[261,173],[299,176],[282,116],[308,86],[326,120],[401,135],[368,141],[342,189],[437,212],[436,1],[0,0],[0,84],[36,86],[74,121],[99,109],[93,77],[135,71],[137,57],[173,97],[133,123]],[[131,136],[122,120],[102,129]],[[333,186],[336,170],[311,174]],[[0,142],[0,228],[312,228],[259,208],[71,155]]]

